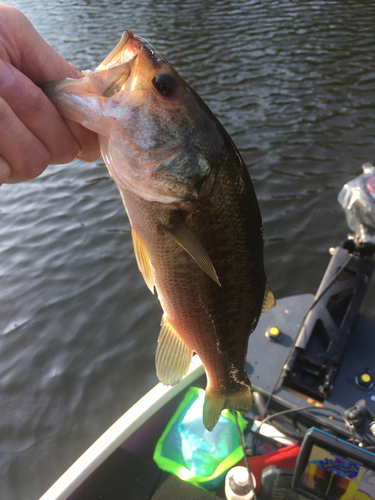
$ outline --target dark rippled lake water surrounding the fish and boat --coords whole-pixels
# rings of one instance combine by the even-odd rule
[[[276,298],[316,291],[347,234],[337,195],[375,160],[374,2],[10,3],[79,69],[124,29],[150,40],[243,155]],[[1,186],[2,499],[37,499],[157,382],[160,317],[101,159]]]

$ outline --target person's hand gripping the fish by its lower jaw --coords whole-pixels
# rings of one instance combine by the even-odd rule
[[[100,155],[97,135],[62,118],[39,88],[81,73],[17,9],[0,3],[0,185],[33,179],[48,165]]]

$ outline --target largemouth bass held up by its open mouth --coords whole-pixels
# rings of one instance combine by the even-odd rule
[[[131,31],[82,74],[43,90],[64,117],[98,134],[138,267],[163,310],[157,376],[177,384],[196,353],[212,430],[223,409],[250,411],[249,335],[276,303],[248,170],[207,104]]]

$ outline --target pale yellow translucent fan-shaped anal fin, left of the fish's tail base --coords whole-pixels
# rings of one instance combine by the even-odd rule
[[[175,385],[187,373],[193,351],[178,336],[166,315],[161,321],[161,330],[156,350],[156,375],[164,385]]]

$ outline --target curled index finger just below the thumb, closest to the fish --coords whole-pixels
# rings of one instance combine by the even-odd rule
[[[80,144],[42,90],[1,60],[0,97],[44,144],[51,163],[69,163],[78,154]]]

